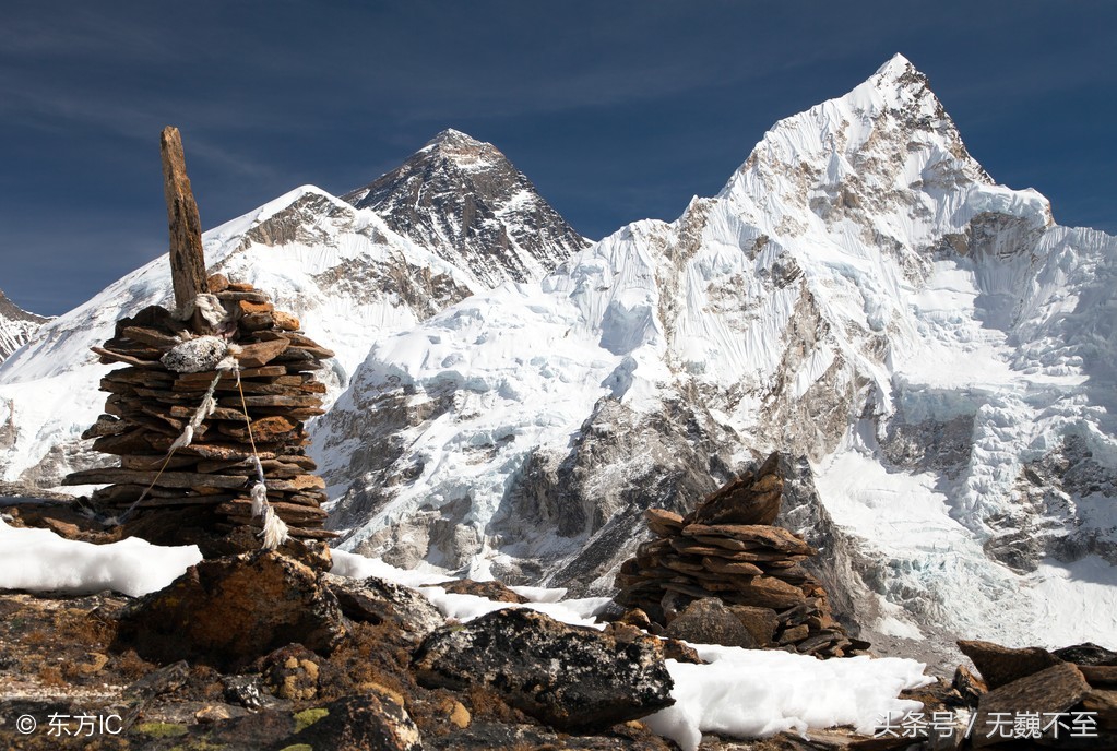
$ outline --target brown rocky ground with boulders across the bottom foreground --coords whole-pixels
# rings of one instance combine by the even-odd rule
[[[105,541],[68,509],[8,511],[12,524]],[[685,643],[623,623],[619,607],[601,616],[603,630],[569,626],[515,608],[523,598],[498,582],[446,585],[509,605],[448,622],[417,590],[323,572],[330,555],[322,547],[303,560],[284,551],[204,560],[141,598],[0,594],[0,745],[678,748],[641,719],[674,701],[665,661],[698,659]],[[706,735],[699,748],[1114,748],[1117,654],[1092,645],[960,646],[980,674],[961,667],[953,682],[907,692],[924,702],[923,715],[897,719],[878,738],[849,729],[810,739]],[[1071,713],[1089,712],[1096,732],[1069,739],[1068,730],[1054,745],[1011,733],[965,736],[970,719],[980,731],[1027,711],[1063,714],[1068,728]],[[34,732],[18,724],[25,716]]]

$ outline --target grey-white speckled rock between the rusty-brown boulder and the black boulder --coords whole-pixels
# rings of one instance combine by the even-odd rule
[[[393,581],[369,577],[351,579],[327,574],[326,586],[337,597],[347,618],[363,623],[394,622],[401,630],[419,638],[446,623],[446,617],[430,600],[414,589]]]

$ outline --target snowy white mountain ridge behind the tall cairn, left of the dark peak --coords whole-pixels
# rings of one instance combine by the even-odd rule
[[[308,335],[330,343],[336,353],[325,374],[330,402],[379,337],[410,329],[478,289],[467,270],[397,234],[375,213],[309,185],[210,230],[202,242],[211,273],[267,290]],[[101,412],[97,386],[111,366],[89,347],[150,305],[173,305],[165,254],[42,324],[0,367],[3,481],[49,488],[95,465],[80,434]]]

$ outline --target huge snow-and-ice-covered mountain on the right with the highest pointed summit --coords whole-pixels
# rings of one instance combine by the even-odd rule
[[[319,423],[332,523],[602,591],[642,509],[780,450],[870,641],[1113,634],[1115,262],[996,185],[897,56],[675,222],[380,340]]]

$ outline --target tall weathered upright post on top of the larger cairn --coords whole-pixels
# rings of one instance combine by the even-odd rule
[[[187,176],[187,160],[182,152],[179,128],[168,125],[159,138],[163,157],[163,195],[166,199],[166,221],[171,233],[171,280],[174,305],[179,310],[193,301],[206,285],[206,257],[202,253],[202,224],[198,203]]]

